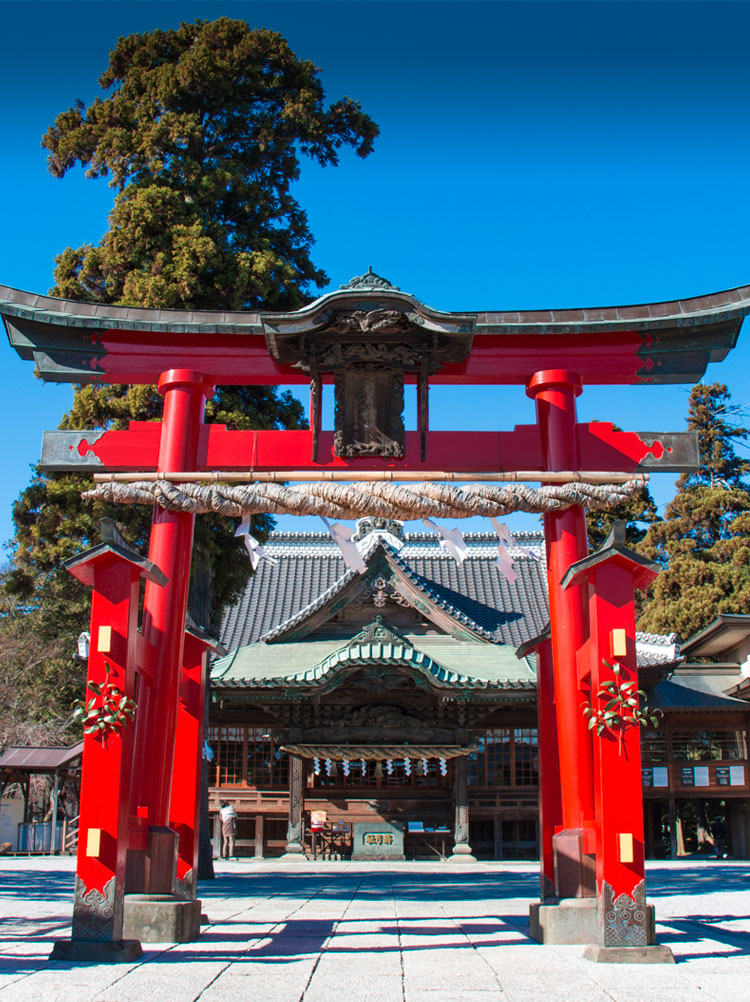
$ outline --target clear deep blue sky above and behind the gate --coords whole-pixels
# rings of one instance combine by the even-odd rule
[[[39,141],[57,113],[100,92],[117,37],[221,15],[280,31],[320,67],[329,99],[357,98],[381,126],[366,160],[308,165],[296,187],[331,288],[371,265],[461,311],[655,302],[750,282],[747,3],[0,0],[1,284],[46,293],[55,254],[106,228],[106,181],[52,178]],[[707,373],[741,405],[746,342]],[[4,539],[71,391],[0,352]],[[687,397],[591,388],[579,415],[677,431]],[[431,402],[435,428],[532,420],[521,388],[440,388]],[[660,503],[673,482],[654,478]]]

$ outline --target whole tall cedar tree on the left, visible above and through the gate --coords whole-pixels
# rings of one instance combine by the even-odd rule
[[[327,277],[312,265],[306,215],[290,193],[300,154],[334,165],[342,146],[364,157],[378,135],[356,101],[326,106],[317,72],[280,35],[228,18],[120,38],[99,79],[110,93],[88,108],[76,102],[42,139],[56,177],[80,164],[117,192],[101,241],[56,259],[51,295],[196,310],[302,306]],[[160,413],[153,387],[77,387],[60,427],[123,428]],[[297,428],[302,410],[272,387],[219,387],[206,420]],[[41,642],[53,629],[69,651],[86,624],[88,594],[61,561],[97,539],[104,515],[141,548],[150,521],[141,508],[82,503],[87,486],[82,476],[35,472],[15,505],[5,581],[6,594],[30,610],[29,630]],[[271,524],[256,517],[253,532],[263,538]],[[190,608],[213,629],[250,573],[233,528],[197,519]],[[60,670],[49,669],[54,678]],[[69,678],[69,659],[66,670]],[[50,695],[55,711],[68,688]]]

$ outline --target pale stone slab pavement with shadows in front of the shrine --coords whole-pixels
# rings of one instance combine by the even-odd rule
[[[135,964],[52,964],[74,861],[0,858],[0,1002],[747,1002],[745,863],[652,863],[676,965],[583,960],[529,939],[532,864],[219,864],[196,943]]]

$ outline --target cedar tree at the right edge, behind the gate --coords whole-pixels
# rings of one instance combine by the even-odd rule
[[[687,638],[720,612],[750,612],[750,463],[735,452],[748,431],[737,414],[722,384],[693,387],[688,428],[698,432],[701,465],[680,477],[640,547],[665,568],[640,629]]]

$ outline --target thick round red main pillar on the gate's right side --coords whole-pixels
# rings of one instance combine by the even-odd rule
[[[547,470],[580,469],[576,397],[581,378],[562,369],[532,377],[527,393],[537,405],[542,454]],[[588,698],[578,653],[586,639],[586,609],[580,588],[564,590],[563,575],[586,556],[586,514],[580,505],[544,516],[550,593],[550,626],[560,754],[562,829],[555,835],[558,897],[594,893],[591,824],[594,819],[592,740],[581,716]]]

